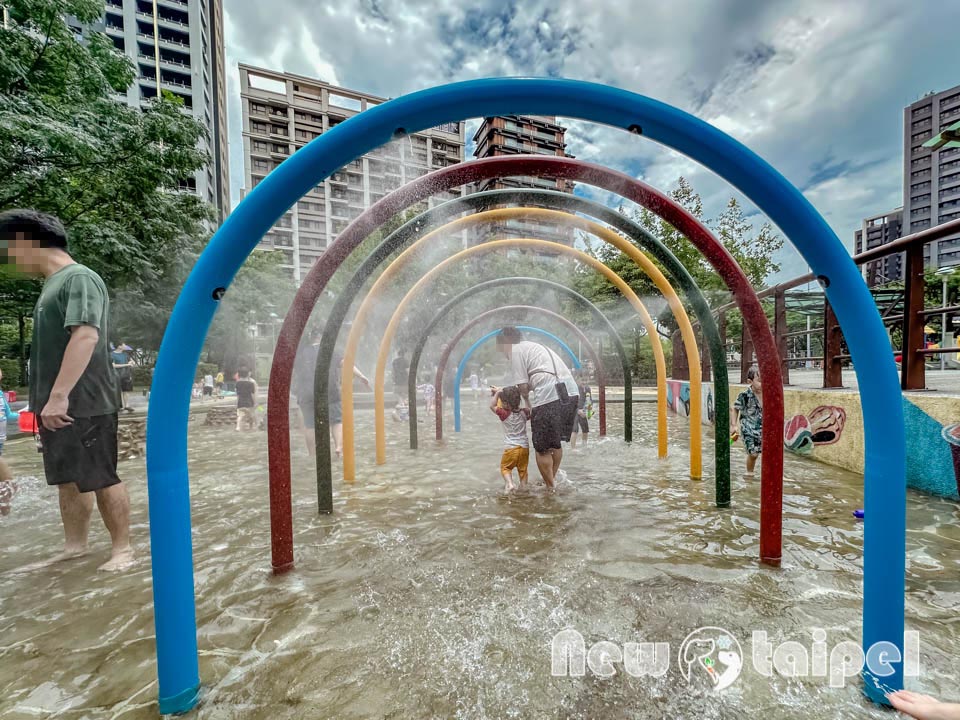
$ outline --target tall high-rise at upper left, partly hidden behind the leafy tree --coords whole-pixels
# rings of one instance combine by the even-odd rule
[[[95,29],[137,68],[137,80],[124,96],[129,105],[140,107],[156,97],[159,76],[160,90],[183,100],[207,128],[211,162],[187,186],[214,205],[222,220],[230,211],[222,0],[106,0],[102,25]]]

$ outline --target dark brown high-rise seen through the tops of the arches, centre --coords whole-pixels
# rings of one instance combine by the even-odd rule
[[[555,117],[542,115],[487,117],[483,119],[473,136],[476,143],[473,154],[478,158],[521,154],[573,157],[566,150],[566,131],[563,125],[557,124]],[[570,180],[556,178],[508,177],[485,180],[474,190],[483,192],[504,188],[541,188],[572,193],[573,186]],[[532,237],[572,245],[574,233],[568,225],[532,220],[510,220],[478,226],[474,241],[483,242],[498,237]]]

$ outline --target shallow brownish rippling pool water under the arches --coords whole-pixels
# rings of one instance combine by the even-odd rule
[[[568,451],[560,492],[504,496],[500,431],[485,404],[464,403],[464,432],[437,445],[421,425],[389,431],[373,464],[372,412],[360,411],[359,481],[335,486],[316,514],[313,467],[294,440],[297,567],[270,572],[266,439],[191,425],[190,458],[202,718],[889,718],[859,684],[760,675],[751,633],[809,647],[858,640],[862,478],[786,458],[784,558],[758,556],[758,481],[735,479],[733,507],[712,505],[712,478],[687,477],[686,421],[670,420],[656,458],[655,407],[636,406],[637,439]],[[448,421],[448,425],[449,425]],[[711,443],[704,467],[712,469]],[[0,716],[156,717],[145,471],[121,464],[140,564],[97,574],[108,553],[94,517],[93,554],[22,572],[61,542],[56,494],[36,478],[32,443],[11,443],[20,476],[0,517]],[[742,446],[734,449],[742,469]],[[536,482],[535,465],[531,479]],[[921,676],[908,687],[956,697],[960,523],[956,503],[908,495],[907,625],[920,633]],[[729,688],[684,678],[677,653],[697,628],[742,646]],[[671,644],[668,671],[611,678],[551,675],[551,641],[573,628],[586,646]]]

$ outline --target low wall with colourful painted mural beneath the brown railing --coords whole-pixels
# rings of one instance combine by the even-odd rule
[[[730,404],[744,389],[730,386]],[[716,423],[713,383],[703,384],[703,417]],[[690,385],[667,381],[670,408],[686,417]],[[907,428],[907,485],[944,497],[960,497],[960,397],[933,393],[903,396]],[[851,390],[784,388],[783,428],[789,452],[863,473],[863,412]],[[722,420],[724,424],[726,420]]]

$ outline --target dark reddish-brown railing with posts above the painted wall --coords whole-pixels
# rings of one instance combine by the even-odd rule
[[[904,254],[904,289],[903,312],[893,314],[900,303],[891,303],[882,313],[885,325],[901,325],[900,349],[891,347],[893,355],[901,356],[900,386],[904,390],[923,390],[926,387],[926,360],[932,355],[947,355],[960,353],[960,347],[926,347],[924,326],[927,318],[942,315],[946,323],[947,313],[960,312],[960,305],[946,305],[935,308],[924,307],[926,280],[924,277],[923,249],[927,243],[940,240],[960,232],[960,220],[952,220],[926,230],[907,235],[886,245],[871,248],[853,256],[857,265],[880,260],[898,253]],[[843,386],[843,363],[850,360],[849,353],[844,351],[843,332],[837,317],[830,307],[826,294],[823,296],[822,322],[819,326],[803,330],[789,330],[787,327],[787,292],[802,285],[816,281],[813,273],[795,277],[786,282],[767,288],[757,296],[761,299],[773,300],[772,330],[776,339],[777,352],[780,355],[780,367],[783,383],[790,383],[790,366],[796,363],[819,363],[823,370],[823,387],[838,388]],[[945,301],[944,301],[945,302]],[[744,324],[739,342],[727,338],[727,312],[734,310],[736,303],[727,303],[713,310],[717,316],[717,327],[720,337],[728,348],[740,349],[740,382],[747,381],[747,371],[755,363],[753,343],[750,333]],[[791,338],[820,335],[823,353],[804,356],[790,356],[788,343]],[[679,333],[673,338],[673,373],[677,380],[687,380],[690,377],[689,364],[683,343],[679,340]],[[701,344],[703,347],[703,344]],[[808,344],[809,347],[809,344]],[[701,362],[703,380],[710,379],[710,363]]]

